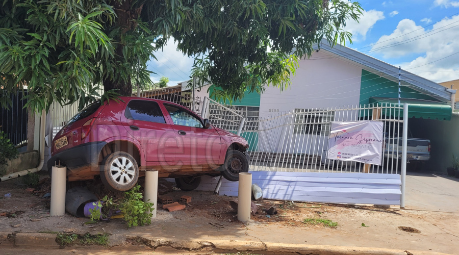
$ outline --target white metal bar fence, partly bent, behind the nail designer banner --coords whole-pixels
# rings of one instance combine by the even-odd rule
[[[295,109],[248,121],[243,112],[234,112],[213,100],[208,105],[209,111],[203,116],[221,129],[236,133],[244,120],[240,135],[249,143],[250,170],[400,173],[402,107],[387,104]],[[384,122],[385,157],[380,166],[326,159],[331,122],[369,119]]]

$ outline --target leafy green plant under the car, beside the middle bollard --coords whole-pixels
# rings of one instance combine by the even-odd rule
[[[108,217],[111,211],[119,209],[121,214],[124,215],[124,220],[127,227],[138,225],[149,225],[151,223],[151,208],[154,203],[145,202],[142,200],[143,195],[140,190],[140,185],[135,186],[131,190],[124,192],[124,196],[120,199],[113,199],[113,197],[105,196],[93,205],[98,208],[89,209],[91,221],[96,221]]]

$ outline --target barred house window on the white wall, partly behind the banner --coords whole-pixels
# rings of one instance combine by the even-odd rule
[[[330,110],[295,109],[295,134],[328,135],[335,112]]]

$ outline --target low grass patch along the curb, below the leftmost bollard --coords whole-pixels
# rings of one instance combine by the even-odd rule
[[[101,235],[90,235],[89,233],[84,234],[84,235],[57,234],[56,242],[61,246],[69,246],[73,244],[107,246],[109,242],[109,238],[108,238],[108,234],[101,234]]]

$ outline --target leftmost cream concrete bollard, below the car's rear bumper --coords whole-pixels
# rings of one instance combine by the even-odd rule
[[[51,172],[51,216],[65,214],[65,185],[67,183],[67,167],[53,166]]]

